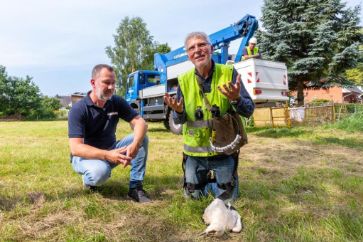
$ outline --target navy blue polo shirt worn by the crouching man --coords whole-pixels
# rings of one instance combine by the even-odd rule
[[[84,138],[85,144],[108,149],[116,142],[115,132],[119,119],[130,122],[138,114],[118,95],[113,95],[102,108],[92,102],[90,93],[91,91],[70,109],[68,137]]]

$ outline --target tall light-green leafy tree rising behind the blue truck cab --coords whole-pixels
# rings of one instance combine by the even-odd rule
[[[170,51],[168,43],[159,44],[153,41],[153,36],[146,28],[146,23],[140,17],[121,20],[114,34],[115,46],[107,46],[106,53],[111,59],[117,78],[126,80],[127,75],[136,70],[153,70],[153,55],[156,52],[167,53]],[[125,85],[124,81],[124,85]]]

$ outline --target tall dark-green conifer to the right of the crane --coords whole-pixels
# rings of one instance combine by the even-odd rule
[[[343,73],[362,61],[360,10],[341,0],[264,0],[259,47],[263,58],[286,63],[298,105],[305,88],[354,85]]]

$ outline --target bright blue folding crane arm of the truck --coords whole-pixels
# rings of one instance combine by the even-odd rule
[[[228,47],[231,41],[237,38],[242,38],[242,42],[239,45],[239,50],[236,54],[234,61],[241,61],[242,49],[247,45],[249,39],[254,35],[254,31],[259,27],[259,22],[255,16],[247,14],[237,23],[231,24],[231,26],[212,33],[210,35],[210,41],[213,48],[221,50],[220,63],[226,63],[228,61]],[[187,61],[185,47],[180,47],[174,51],[170,51],[166,54],[156,53],[154,56],[154,69],[161,73],[161,83],[166,81],[166,68],[170,65],[175,65],[183,61]]]

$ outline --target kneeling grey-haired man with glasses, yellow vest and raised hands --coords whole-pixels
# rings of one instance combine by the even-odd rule
[[[207,175],[213,171],[217,179],[217,186],[212,189],[215,197],[229,190],[229,198],[232,197],[230,201],[233,201],[238,196],[238,182],[232,184],[235,159],[238,160],[238,156],[213,152],[209,142],[212,135],[211,113],[205,106],[196,77],[202,80],[202,88],[210,105],[220,107],[221,113],[232,105],[239,115],[250,117],[254,112],[254,102],[244,88],[241,75],[232,65],[212,61],[213,46],[207,34],[190,33],[184,45],[188,60],[195,68],[178,76],[176,95],[171,98],[166,93],[164,100],[174,110],[175,124],[183,124],[185,195],[192,198],[206,195]]]

